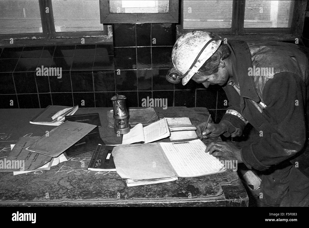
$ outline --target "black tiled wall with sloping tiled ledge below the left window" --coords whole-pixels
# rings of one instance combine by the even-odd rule
[[[73,106],[82,100],[84,107],[107,105],[101,97],[115,91],[113,55],[112,44],[4,48],[0,108]],[[42,65],[61,67],[61,78],[37,76],[36,68]]]

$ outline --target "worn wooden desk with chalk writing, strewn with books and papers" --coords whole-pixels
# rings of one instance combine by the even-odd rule
[[[106,113],[111,108],[79,108],[76,114],[99,112],[104,142],[119,144]],[[29,120],[41,109],[0,109],[0,156],[19,137],[42,136],[53,126],[32,125]],[[159,117],[189,117],[192,124],[207,120],[206,108],[156,108]],[[6,137],[5,137],[6,136]],[[212,140],[221,140],[215,138]],[[164,139],[163,141],[169,141]],[[205,141],[207,143],[207,141]],[[210,140],[208,141],[210,142]],[[91,153],[79,154],[49,171],[13,176],[0,172],[0,205],[53,206],[248,206],[248,195],[237,175],[228,171],[196,178],[127,187],[116,172],[87,171]]]

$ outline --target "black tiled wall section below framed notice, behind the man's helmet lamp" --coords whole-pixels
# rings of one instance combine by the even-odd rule
[[[128,97],[131,106],[142,99],[167,98],[168,106],[206,107],[217,122],[226,111],[224,91],[205,89],[192,80],[183,86],[165,79],[172,66],[175,25],[171,23],[114,24],[116,90]],[[118,72],[118,74],[117,74]]]

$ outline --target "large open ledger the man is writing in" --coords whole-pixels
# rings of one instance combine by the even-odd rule
[[[155,184],[226,171],[218,158],[205,153],[199,140],[120,145],[112,151],[117,173],[127,186]]]

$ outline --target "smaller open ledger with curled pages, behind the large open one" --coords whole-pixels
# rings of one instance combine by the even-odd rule
[[[175,125],[191,125],[191,121],[188,117],[180,117],[163,118],[145,127],[137,124],[129,133],[123,135],[122,144],[149,143],[166,137],[170,137],[171,141],[197,138],[195,126],[170,128]]]

